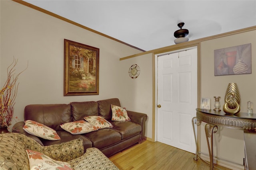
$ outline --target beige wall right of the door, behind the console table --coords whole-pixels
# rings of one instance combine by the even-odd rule
[[[214,76],[214,50],[251,43],[252,47],[252,74]],[[256,104],[256,30],[239,33],[227,37],[203,41],[201,43],[201,94],[202,98],[211,99],[211,108],[214,108],[213,96],[220,96],[223,107],[228,83],[238,85],[241,97],[241,111],[247,112],[247,101]],[[222,108],[221,108],[222,109]],[[256,109],[254,108],[254,113]],[[204,124],[203,124],[204,125]],[[201,151],[208,153],[204,126],[202,126]],[[216,147],[217,146],[217,147]],[[214,134],[214,155],[239,164],[243,164],[244,136],[242,130],[220,127]]]

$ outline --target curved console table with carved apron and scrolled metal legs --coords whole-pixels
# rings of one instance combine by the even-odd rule
[[[254,113],[236,113],[234,115],[226,114],[224,111],[214,111],[207,109],[196,109],[196,117],[192,119],[192,125],[194,130],[194,137],[196,142],[196,155],[194,160],[198,160],[198,141],[196,138],[194,125],[200,125],[201,121],[207,123],[205,125],[205,133],[207,138],[207,145],[210,156],[210,170],[213,169],[213,153],[212,153],[212,137],[213,133],[218,131],[218,125],[235,128],[240,130],[250,130],[255,131],[256,134],[256,114]],[[209,144],[209,140],[211,140],[211,145]]]

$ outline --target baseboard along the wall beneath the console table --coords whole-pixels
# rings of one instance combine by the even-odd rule
[[[200,158],[206,162],[210,162],[209,154],[199,152]],[[218,158],[216,156],[213,156],[213,162],[214,164],[224,166],[226,168],[232,169],[232,170],[244,170],[244,166],[241,164],[238,164],[236,162],[232,162],[230,160],[226,160],[223,158]]]

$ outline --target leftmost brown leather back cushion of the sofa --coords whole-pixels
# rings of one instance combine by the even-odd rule
[[[32,104],[24,109],[24,120],[42,123],[56,131],[60,124],[72,121],[70,104]]]

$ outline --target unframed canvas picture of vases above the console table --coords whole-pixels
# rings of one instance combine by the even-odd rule
[[[214,76],[252,73],[251,44],[214,50]]]

